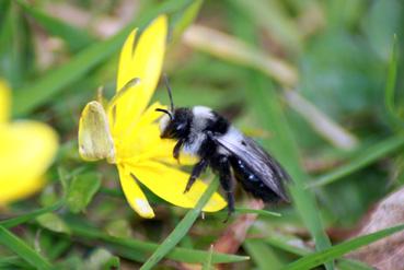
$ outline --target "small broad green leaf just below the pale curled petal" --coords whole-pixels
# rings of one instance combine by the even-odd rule
[[[70,211],[73,213],[83,211],[100,187],[101,179],[97,173],[91,172],[73,177],[66,197]]]

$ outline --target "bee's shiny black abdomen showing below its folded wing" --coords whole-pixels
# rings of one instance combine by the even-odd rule
[[[230,156],[230,164],[234,172],[234,177],[243,188],[265,202],[277,202],[281,198],[277,196],[265,183],[249,167],[246,163],[235,156]]]

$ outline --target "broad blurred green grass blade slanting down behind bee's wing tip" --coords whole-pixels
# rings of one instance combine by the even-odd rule
[[[308,176],[299,165],[298,148],[295,138],[287,126],[286,117],[281,110],[279,97],[270,81],[263,78],[262,74],[252,77],[252,89],[255,89],[255,95],[251,95],[254,102],[254,108],[261,120],[263,128],[267,128],[274,134],[266,145],[272,150],[274,155],[286,166],[293,179],[293,184],[289,185],[295,209],[309,228],[315,240],[318,250],[323,250],[331,246],[330,239],[324,232],[323,224],[319,214],[314,195],[304,189]],[[259,111],[267,111],[265,115]],[[328,263],[327,269],[333,269]]]

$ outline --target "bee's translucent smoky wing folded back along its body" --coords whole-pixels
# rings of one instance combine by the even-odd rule
[[[268,188],[280,198],[288,201],[282,184],[284,181],[290,180],[290,176],[280,164],[253,139],[242,134],[235,128],[231,128],[228,136],[213,137],[213,140],[247,164]]]

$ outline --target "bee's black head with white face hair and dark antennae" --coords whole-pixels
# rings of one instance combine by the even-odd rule
[[[164,108],[155,109],[157,111],[164,113],[160,119],[160,137],[163,139],[181,139],[189,133],[192,110],[188,108],[174,108],[169,79],[165,74],[164,83],[169,92],[171,108],[170,110]]]

